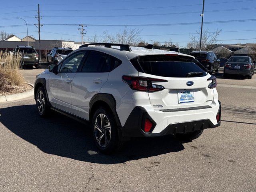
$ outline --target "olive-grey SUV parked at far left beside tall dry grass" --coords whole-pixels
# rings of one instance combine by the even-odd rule
[[[21,67],[35,66],[39,69],[38,53],[32,46],[17,46],[14,53],[21,55]]]

